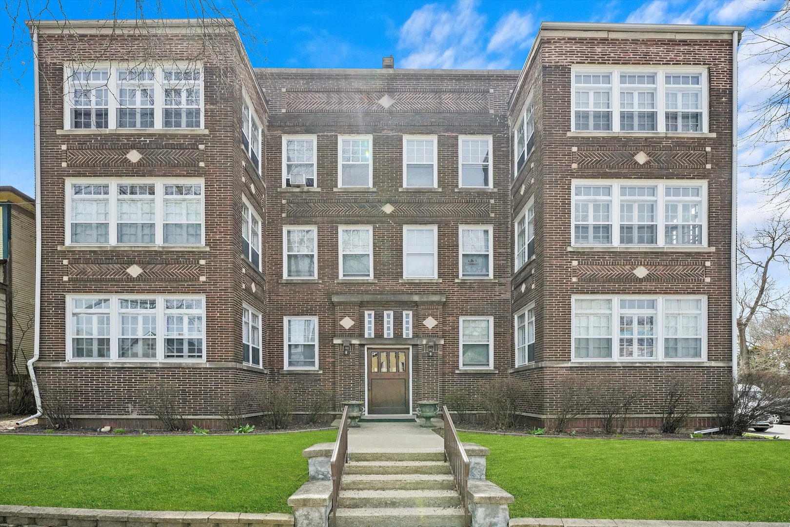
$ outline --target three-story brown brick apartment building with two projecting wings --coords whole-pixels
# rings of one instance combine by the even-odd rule
[[[79,422],[145,426],[157,380],[211,420],[261,385],[397,414],[523,378],[540,424],[576,372],[637,379],[654,427],[671,375],[732,376],[743,28],[544,23],[519,72],[253,69],[224,21],[62,24],[32,25],[36,372]]]

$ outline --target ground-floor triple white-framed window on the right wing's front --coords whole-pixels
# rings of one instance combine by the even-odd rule
[[[574,295],[574,360],[705,360],[707,298]]]

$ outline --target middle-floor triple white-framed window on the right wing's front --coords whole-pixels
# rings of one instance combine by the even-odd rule
[[[707,243],[706,182],[575,180],[571,201],[574,246]]]

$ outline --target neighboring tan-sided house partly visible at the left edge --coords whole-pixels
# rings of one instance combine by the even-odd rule
[[[0,186],[0,414],[31,408],[35,301],[36,202]]]

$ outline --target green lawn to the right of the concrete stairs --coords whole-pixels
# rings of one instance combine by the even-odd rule
[[[790,520],[790,441],[459,435],[491,449],[510,518]]]

